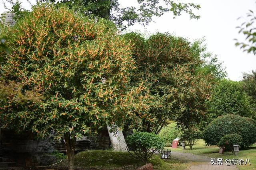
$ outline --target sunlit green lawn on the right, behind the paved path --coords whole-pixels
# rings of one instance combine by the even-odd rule
[[[170,148],[170,147],[166,147]],[[194,146],[193,149],[190,150],[189,147],[187,146],[185,150],[182,150],[182,147],[178,147],[177,149],[172,149],[173,151],[177,152],[188,152],[196,155],[204,155],[208,156],[210,158],[223,158],[223,160],[226,159],[250,159],[250,164],[246,165],[240,165],[238,166],[239,169],[241,170],[251,170],[251,169],[256,169],[256,147],[252,147],[250,149],[246,150],[240,150],[238,152],[238,155],[235,156],[232,154],[232,152],[224,152],[224,154],[219,154],[219,147],[216,146],[206,146],[204,141],[200,139]]]

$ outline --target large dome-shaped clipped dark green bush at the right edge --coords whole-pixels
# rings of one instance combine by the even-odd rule
[[[224,135],[237,133],[242,137],[242,147],[256,142],[254,120],[239,115],[222,115],[212,121],[203,131],[202,138],[208,145],[218,145]]]

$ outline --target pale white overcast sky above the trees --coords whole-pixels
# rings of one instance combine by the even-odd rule
[[[135,5],[136,1],[119,0],[121,6]],[[30,8],[26,0],[21,0],[21,2],[25,8]],[[33,4],[35,0],[30,0],[30,2]],[[254,10],[255,0],[190,0],[190,2],[200,4],[201,9],[194,10],[201,16],[199,20],[190,20],[185,13],[173,19],[172,13],[166,13],[160,18],[154,18],[155,22],[146,27],[136,24],[129,29],[147,33],[168,31],[176,36],[186,37],[190,41],[205,37],[207,51],[218,55],[218,59],[224,62],[228,78],[231,80],[241,80],[242,72],[256,70],[256,56],[242,52],[240,48],[235,47],[233,40],[234,38],[244,39],[236,29],[236,26],[239,26],[243,20],[237,20],[237,18],[246,16],[248,10]],[[6,10],[0,0],[0,13],[4,11]]]

